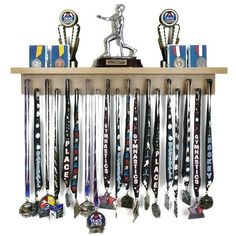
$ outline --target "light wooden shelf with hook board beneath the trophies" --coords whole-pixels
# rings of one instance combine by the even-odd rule
[[[50,79],[52,88],[59,88],[64,91],[65,79],[70,79],[72,83],[71,91],[79,88],[83,94],[85,80],[90,79],[93,89],[99,89],[104,93],[105,80],[111,80],[111,88],[114,92],[116,88],[121,93],[125,92],[125,80],[131,80],[131,89],[140,88],[141,93],[145,91],[147,79],[151,79],[152,89],[159,88],[161,93],[166,93],[166,79],[172,80],[172,88],[180,88],[185,93],[186,79],[192,79],[192,93],[195,88],[201,88],[205,93],[206,79],[213,80],[213,91],[215,92],[215,74],[227,74],[226,67],[203,67],[203,68],[131,68],[131,67],[110,67],[110,68],[11,68],[11,73],[21,74],[21,92],[23,93],[23,81],[31,80],[32,88],[39,88],[44,92],[44,80]],[[31,91],[32,92],[32,91]]]

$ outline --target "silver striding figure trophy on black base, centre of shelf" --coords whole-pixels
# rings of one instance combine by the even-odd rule
[[[134,56],[137,50],[124,42],[124,16],[125,6],[123,4],[116,5],[115,14],[110,17],[97,15],[97,18],[111,21],[112,32],[104,39],[104,53],[95,61],[96,67],[142,67],[141,61]],[[111,42],[116,41],[119,55],[111,55]],[[129,51],[125,55],[125,51]]]

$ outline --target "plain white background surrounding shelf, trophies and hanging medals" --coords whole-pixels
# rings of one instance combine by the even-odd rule
[[[206,218],[188,220],[180,210],[180,217],[176,219],[161,205],[160,219],[155,219],[151,211],[141,209],[140,217],[133,224],[131,212],[120,210],[116,220],[114,212],[103,211],[107,217],[104,235],[141,235],[147,234],[147,231],[150,235],[235,234],[236,50],[233,2],[123,0],[126,6],[125,41],[138,49],[137,57],[142,59],[144,66],[159,66],[158,17],[163,9],[170,7],[179,13],[180,43],[207,44],[208,66],[226,66],[229,73],[217,75],[216,79],[212,108],[215,180],[210,190],[214,196],[214,207],[205,213]],[[91,66],[93,59],[103,52],[103,38],[110,32],[110,24],[98,20],[96,15],[110,16],[117,3],[114,0],[8,0],[4,6],[1,3],[1,235],[14,232],[28,235],[88,233],[85,219],[82,216],[73,219],[72,212],[68,210],[64,218],[51,222],[37,217],[24,219],[18,214],[24,201],[23,99],[20,95],[20,75],[11,75],[10,67],[28,66],[30,44],[58,43],[58,17],[66,8],[74,9],[79,15],[79,66]]]

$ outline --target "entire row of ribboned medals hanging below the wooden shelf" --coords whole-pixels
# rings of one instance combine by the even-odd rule
[[[132,137],[130,132],[130,80],[127,80],[126,88],[126,117],[125,117],[125,145],[123,153],[123,174],[121,175],[121,142],[120,142],[120,97],[119,89],[116,89],[116,151],[115,151],[115,197],[110,196],[110,178],[111,178],[111,150],[110,150],[110,80],[106,80],[105,104],[104,104],[104,132],[103,132],[103,177],[105,194],[98,197],[97,189],[97,170],[96,170],[96,138],[93,144],[90,143],[91,129],[91,81],[86,81],[85,95],[85,201],[81,204],[77,200],[78,185],[78,169],[79,169],[79,90],[74,91],[74,128],[73,128],[73,155],[71,154],[71,102],[70,102],[70,80],[65,81],[65,125],[64,125],[64,153],[62,179],[66,187],[66,206],[70,206],[70,190],[75,197],[74,217],[78,214],[88,217],[87,224],[92,232],[101,232],[105,226],[105,217],[98,212],[97,208],[117,209],[118,192],[124,184],[127,194],[121,198],[121,207],[133,209],[133,221],[139,215],[139,186],[140,179],[146,189],[146,197],[144,201],[145,210],[150,206],[150,197],[148,193],[150,180],[151,188],[154,193],[155,202],[152,204],[152,213],[155,217],[160,217],[161,211],[158,205],[158,188],[159,188],[159,155],[160,155],[160,90],[154,91],[155,111],[154,111],[154,127],[153,139],[151,140],[151,80],[146,82],[146,109],[144,123],[143,138],[143,159],[140,168],[140,90],[136,89],[133,103],[133,127]],[[206,122],[205,122],[205,149],[204,156],[201,157],[200,137],[204,135],[200,132],[201,120],[201,89],[195,89],[195,110],[194,110],[194,134],[193,134],[193,161],[191,165],[191,119],[190,119],[190,96],[191,96],[191,80],[186,80],[186,99],[183,117],[183,147],[182,147],[182,177],[185,189],[182,191],[182,201],[189,205],[189,218],[204,217],[203,210],[209,209],[213,205],[212,197],[208,196],[208,189],[213,182],[213,161],[212,161],[212,136],[211,136],[211,91],[212,80],[207,80],[207,99],[206,99]],[[180,150],[180,89],[175,89],[175,126],[174,135],[172,128],[172,112],[171,112],[171,80],[166,80],[167,85],[167,103],[166,103],[166,194],[165,208],[170,209],[169,190],[171,185],[174,191],[174,214],[178,216],[178,182],[179,182],[179,156]],[[26,202],[21,206],[19,212],[25,217],[50,216],[50,219],[63,216],[63,204],[59,204],[58,195],[60,193],[60,169],[59,169],[59,137],[58,137],[58,118],[59,118],[59,96],[60,90],[55,89],[55,109],[54,109],[54,195],[49,193],[49,146],[50,146],[50,80],[45,80],[45,188],[46,195],[38,200],[39,192],[43,186],[43,177],[41,170],[41,138],[40,138],[40,94],[39,89],[34,89],[34,187],[35,187],[35,203],[30,199],[30,124],[29,124],[29,103],[30,103],[30,80],[24,81],[24,98],[25,98],[25,197]],[[99,90],[95,94],[95,107],[99,105]],[[96,136],[97,115],[94,109],[94,137]],[[132,143],[130,140],[132,139]],[[175,140],[174,140],[175,139]],[[91,163],[91,145],[94,145],[93,164]],[[152,154],[151,154],[152,149]],[[71,155],[73,161],[71,165]],[[174,156],[174,158],[173,158]],[[206,193],[201,199],[199,198],[199,189],[201,186],[200,161],[204,158],[204,176]],[[130,162],[132,162],[132,185],[135,199],[129,195],[129,184],[131,182]],[[93,166],[93,180],[91,181],[91,171]],[[71,171],[72,167],[72,171]],[[140,173],[141,170],[141,173]],[[191,205],[190,195],[190,176],[193,177],[193,190],[195,201]],[[140,176],[141,175],[141,176]],[[90,183],[93,183],[93,194],[91,194]],[[93,202],[89,201],[89,196],[93,195]]]

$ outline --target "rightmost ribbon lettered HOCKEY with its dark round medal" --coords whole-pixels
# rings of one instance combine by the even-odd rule
[[[212,80],[207,80],[207,110],[206,110],[206,138],[205,138],[205,178],[206,194],[200,199],[201,208],[206,210],[213,206],[213,199],[208,195],[208,190],[214,179],[213,156],[212,156],[212,130],[211,130],[211,93]]]

